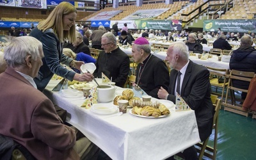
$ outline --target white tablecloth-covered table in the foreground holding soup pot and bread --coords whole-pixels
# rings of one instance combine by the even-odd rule
[[[116,93],[122,90],[117,88]],[[68,123],[111,159],[166,159],[200,141],[193,110],[174,111],[163,118],[141,118],[128,113],[128,109],[121,116],[108,117],[81,108],[84,100],[67,99],[47,88],[44,93],[67,110]]]

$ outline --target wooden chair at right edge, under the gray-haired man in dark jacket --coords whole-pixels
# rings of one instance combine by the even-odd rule
[[[247,81],[250,82],[252,78],[255,77],[254,72],[244,72],[240,70],[231,70],[230,75],[228,76],[228,86],[227,86],[227,93],[226,93],[226,99],[225,102],[223,103],[223,106],[225,106],[224,110],[225,111],[231,111],[234,113],[237,113],[239,115],[244,115],[248,116],[248,111],[244,111],[241,105],[236,103],[236,97],[234,95],[235,91],[240,91],[240,92],[248,92],[248,90],[244,90],[241,88],[237,88],[232,84],[233,80],[240,80],[240,81]],[[228,103],[228,92],[230,92],[231,95],[231,104]]]

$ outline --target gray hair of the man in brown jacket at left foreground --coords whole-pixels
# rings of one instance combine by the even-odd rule
[[[13,38],[4,49],[4,60],[9,67],[15,68],[26,65],[26,56],[31,56],[36,61],[44,55],[40,55],[42,43],[33,36],[19,36]]]

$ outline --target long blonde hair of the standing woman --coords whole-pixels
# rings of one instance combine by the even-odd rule
[[[70,13],[74,13],[76,8],[68,2],[61,2],[52,10],[47,19],[39,22],[37,28],[43,32],[49,28],[52,28],[56,36],[59,38],[60,42],[68,40],[69,42],[76,42],[76,26],[73,25],[69,31],[63,30],[63,16]]]

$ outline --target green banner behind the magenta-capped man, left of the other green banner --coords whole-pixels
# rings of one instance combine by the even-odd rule
[[[136,20],[140,29],[182,30],[182,20]]]

